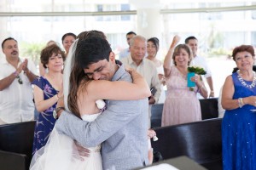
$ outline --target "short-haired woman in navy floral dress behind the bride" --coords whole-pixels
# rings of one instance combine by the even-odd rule
[[[55,126],[53,111],[58,99],[63,96],[61,72],[65,58],[61,48],[55,44],[44,48],[41,52],[41,63],[44,68],[48,68],[48,72],[32,82],[35,105],[39,112],[32,154],[46,144],[49,133]]]

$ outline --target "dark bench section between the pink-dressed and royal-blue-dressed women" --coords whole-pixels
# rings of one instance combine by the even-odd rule
[[[201,119],[218,117],[218,98],[199,99],[201,105]]]

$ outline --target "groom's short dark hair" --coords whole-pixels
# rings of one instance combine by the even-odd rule
[[[88,68],[89,65],[100,60],[109,60],[112,51],[108,41],[102,37],[88,37],[79,40],[75,59],[81,68]]]

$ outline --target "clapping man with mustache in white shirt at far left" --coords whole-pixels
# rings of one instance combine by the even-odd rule
[[[0,60],[0,124],[32,121],[34,103],[31,82],[37,77],[36,66],[19,57],[18,42],[2,42],[5,59]]]

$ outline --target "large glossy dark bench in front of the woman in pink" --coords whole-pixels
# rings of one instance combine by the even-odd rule
[[[188,156],[207,169],[222,169],[222,119],[210,119],[154,128],[158,141],[152,142],[164,160]]]

